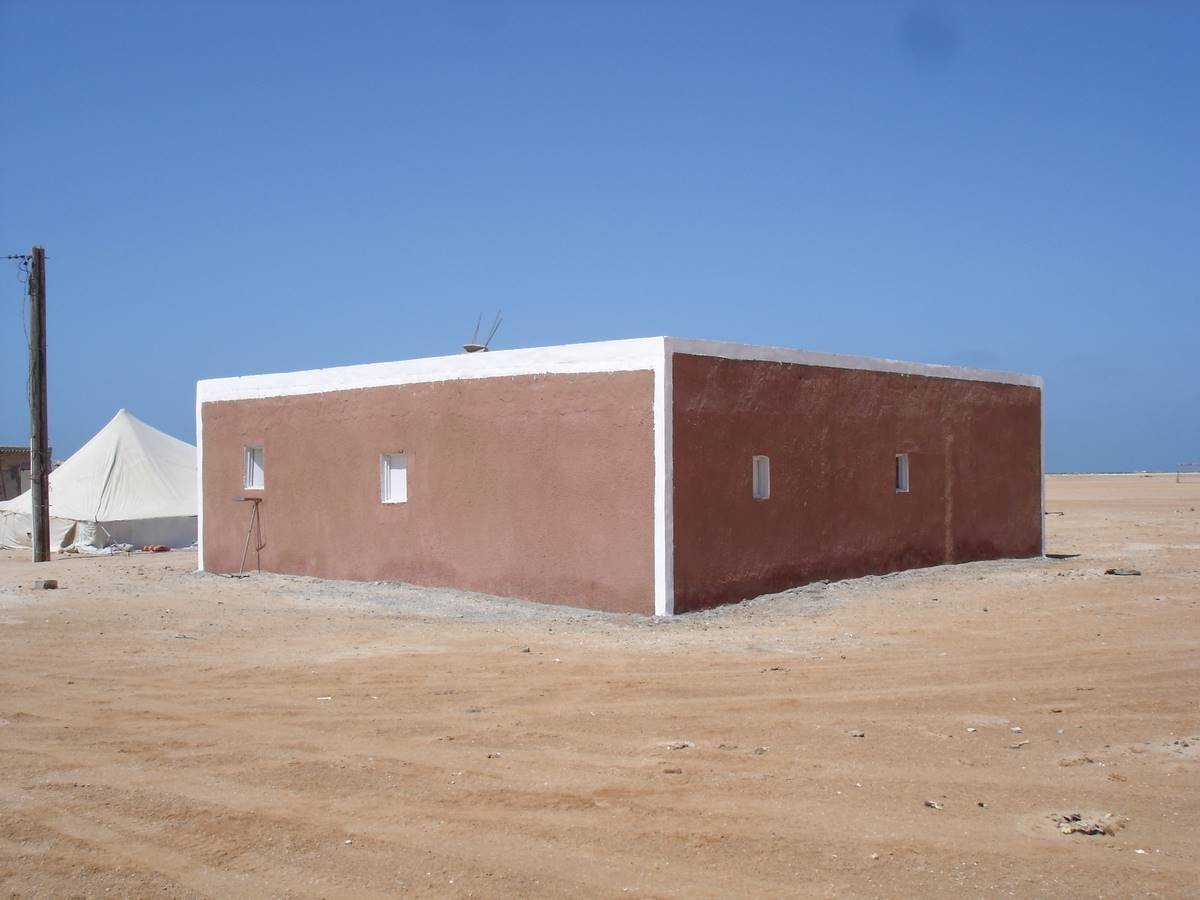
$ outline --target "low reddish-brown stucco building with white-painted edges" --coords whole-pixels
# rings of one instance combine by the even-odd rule
[[[196,420],[220,572],[662,616],[1042,553],[1032,376],[653,337],[204,380]]]

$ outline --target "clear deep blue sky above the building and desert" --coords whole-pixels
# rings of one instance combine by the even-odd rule
[[[1051,470],[1200,457],[1200,4],[0,0],[50,431],[194,383],[647,335],[1046,378]],[[4,263],[11,266],[11,263]],[[28,439],[0,269],[0,443]]]

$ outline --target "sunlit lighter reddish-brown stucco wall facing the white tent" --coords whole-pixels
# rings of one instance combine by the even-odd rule
[[[653,613],[650,372],[487,378],[204,403],[204,566]],[[242,487],[260,445],[265,490]],[[408,503],[379,455],[408,456]],[[250,563],[254,565],[251,547]]]

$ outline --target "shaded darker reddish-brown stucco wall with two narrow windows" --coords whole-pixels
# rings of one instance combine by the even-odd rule
[[[672,373],[677,612],[1042,552],[1037,388],[688,354]],[[755,455],[767,500],[750,496]]]

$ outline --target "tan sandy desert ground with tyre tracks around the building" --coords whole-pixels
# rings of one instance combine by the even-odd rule
[[[1200,482],[1048,509],[667,622],[0,553],[0,893],[1194,896]]]

